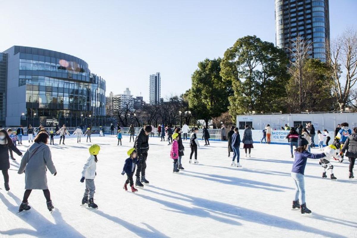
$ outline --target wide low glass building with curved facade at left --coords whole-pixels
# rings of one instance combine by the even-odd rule
[[[12,46],[2,55],[7,57],[6,125],[77,126],[105,116],[105,80],[84,60],[26,46]],[[0,56],[0,100],[1,62]]]

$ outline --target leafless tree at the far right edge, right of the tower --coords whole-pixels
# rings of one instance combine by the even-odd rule
[[[350,93],[357,81],[357,32],[347,29],[331,44],[327,54],[333,68],[333,94],[340,110],[350,102]]]

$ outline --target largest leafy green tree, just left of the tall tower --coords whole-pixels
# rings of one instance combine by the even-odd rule
[[[231,82],[234,91],[229,97],[231,116],[284,110],[287,64],[282,49],[256,36],[240,38],[228,48],[221,62],[221,76]]]

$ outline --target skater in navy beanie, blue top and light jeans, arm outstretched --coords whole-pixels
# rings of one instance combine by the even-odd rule
[[[307,158],[310,159],[320,159],[326,157],[325,153],[321,154],[312,154],[307,152],[308,142],[305,138],[298,138],[298,148],[295,149],[295,161],[292,165],[291,177],[295,183],[295,196],[292,202],[292,208],[300,208],[301,213],[311,213],[306,207],[305,202],[305,181],[304,181],[304,172],[306,167]],[[330,154],[328,155],[330,156]],[[331,154],[332,156],[332,154]],[[301,204],[300,204],[301,202]]]

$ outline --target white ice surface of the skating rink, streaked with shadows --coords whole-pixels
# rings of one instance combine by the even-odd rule
[[[55,137],[55,143],[59,137]],[[322,179],[318,160],[305,170],[307,207],[311,215],[292,210],[294,193],[288,145],[254,144],[252,158],[241,152],[242,169],[231,167],[227,142],[198,149],[200,164],[188,164],[184,141],[184,171],[172,173],[170,146],[150,138],[146,178],[150,185],[135,194],[122,187],[120,175],[129,137],[117,146],[115,136],[92,136],[101,146],[95,179],[99,209],[81,207],[85,185],[81,171],[90,143],[50,145],[57,176],[47,173],[56,210],[50,214],[40,190],[32,191],[31,210],[16,214],[25,176],[17,174],[20,157],[11,163],[9,193],[0,174],[1,237],[357,237],[357,180],[348,180],[348,162],[332,162],[337,181]],[[24,138],[19,148],[29,145]],[[202,143],[201,143],[202,144]],[[318,153],[318,149],[312,150]],[[357,174],[357,173],[356,173]],[[134,176],[135,178],[135,176]]]

